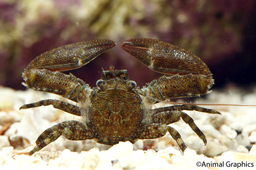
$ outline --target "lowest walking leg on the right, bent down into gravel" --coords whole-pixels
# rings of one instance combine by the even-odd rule
[[[182,140],[179,132],[173,127],[166,126],[164,124],[151,124],[148,125],[139,136],[139,139],[154,139],[164,136],[167,132],[174,138],[179,145],[181,151],[184,153],[187,148],[184,141]]]

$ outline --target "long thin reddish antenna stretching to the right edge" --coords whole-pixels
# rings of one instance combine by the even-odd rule
[[[253,106],[256,105],[240,105],[240,104],[214,104],[214,103],[182,103],[182,102],[172,102],[172,101],[161,101],[155,98],[152,98],[149,95],[146,95],[146,98],[154,100],[156,102],[169,103],[174,105],[196,105],[196,106]]]

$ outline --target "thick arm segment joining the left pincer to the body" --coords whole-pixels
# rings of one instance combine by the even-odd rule
[[[28,88],[63,96],[74,102],[83,103],[87,98],[89,85],[74,75],[48,69],[29,69],[23,72],[23,83]]]

